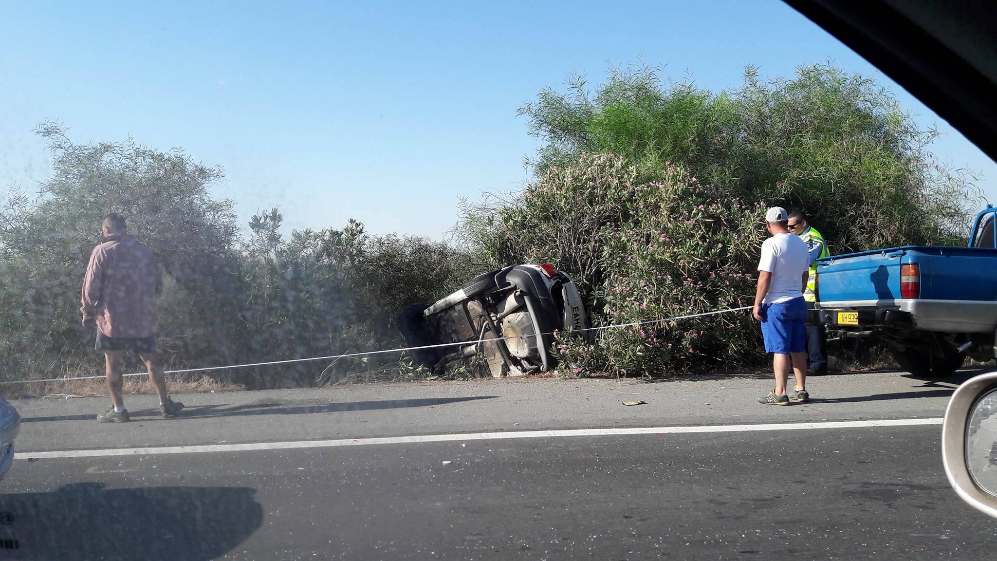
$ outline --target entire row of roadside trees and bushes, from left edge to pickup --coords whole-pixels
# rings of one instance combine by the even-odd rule
[[[211,197],[218,168],[182,151],[74,144],[54,123],[52,177],[0,209],[0,378],[102,371],[79,292],[101,240],[123,213],[166,272],[160,336],[169,367],[306,358],[390,348],[395,317],[484,271],[550,262],[582,288],[593,321],[649,321],[751,302],[762,208],[812,216],[834,253],[966,236],[972,175],[930,153],[919,127],[872,80],[828,65],[789,79],[747,69],[720,93],[662,69],[613,69],[545,89],[519,114],[543,141],[520,193],[464,201],[455,245],[370,236],[361,223],[282,234],[278,209],[240,232],[233,203]],[[635,375],[761,359],[747,315],[700,317],[561,335],[565,371]],[[253,387],[325,383],[406,366],[396,355],[256,367]],[[135,365],[135,364],[133,364]]]

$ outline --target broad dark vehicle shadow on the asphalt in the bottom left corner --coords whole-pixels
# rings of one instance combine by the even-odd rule
[[[263,507],[248,487],[106,489],[74,483],[0,495],[4,559],[215,559],[248,538]],[[14,541],[16,540],[16,542]],[[16,544],[16,549],[10,547]]]

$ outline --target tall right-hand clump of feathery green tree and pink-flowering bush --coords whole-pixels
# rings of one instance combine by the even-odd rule
[[[519,110],[545,144],[522,193],[464,202],[455,238],[495,263],[549,261],[597,325],[751,305],[763,207],[799,209],[840,254],[956,243],[978,206],[972,177],[930,155],[893,96],[825,65],[719,94],[611,70],[545,89]],[[483,261],[485,259],[483,258]],[[571,375],[651,375],[764,358],[747,312],[562,335]]]

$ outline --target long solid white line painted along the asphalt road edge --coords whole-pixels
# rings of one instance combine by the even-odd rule
[[[108,448],[99,450],[57,450],[51,452],[17,452],[14,459],[28,458],[96,458],[105,456],[147,456],[156,454],[195,454],[208,452],[246,452],[286,450],[289,448],[330,448],[369,444],[412,444],[452,442],[455,440],[498,440],[513,438],[560,438],[571,436],[625,436],[628,434],[691,434],[697,432],[752,432],[767,430],[813,430],[818,428],[865,428],[878,426],[918,426],[941,424],[941,418],[884,419],[861,421],[787,422],[770,424],[718,424],[705,426],[644,426],[636,428],[576,428],[567,430],[518,430],[510,432],[468,432],[464,434],[417,434],[378,438],[340,438],[336,440],[296,440],[246,444],[204,444],[197,446],[157,446],[147,448]]]

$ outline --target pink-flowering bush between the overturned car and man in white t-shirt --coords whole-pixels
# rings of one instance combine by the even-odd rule
[[[618,156],[553,166],[500,213],[522,261],[550,262],[589,294],[597,325],[745,305],[761,244],[758,208],[667,163],[642,174]],[[601,330],[597,344],[562,336],[561,369],[651,375],[758,359],[745,312]]]

